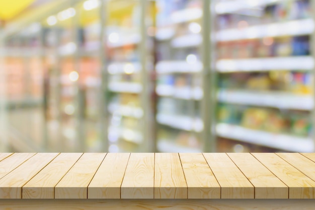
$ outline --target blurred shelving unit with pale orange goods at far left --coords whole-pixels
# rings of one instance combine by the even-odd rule
[[[2,33],[5,43],[2,51],[5,72],[2,77],[6,80],[3,84],[6,87],[2,89],[6,93],[1,95],[7,99],[2,103],[6,112],[2,114],[6,115],[6,125],[3,126],[7,129],[7,149],[19,151],[27,148],[35,151],[45,142],[41,26],[38,23],[27,24],[22,30],[10,37]]]

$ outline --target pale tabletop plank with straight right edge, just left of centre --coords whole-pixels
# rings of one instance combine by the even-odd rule
[[[121,185],[121,198],[154,198],[154,153],[131,153]]]

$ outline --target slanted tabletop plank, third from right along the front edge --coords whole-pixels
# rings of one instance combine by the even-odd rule
[[[254,198],[254,186],[225,153],[203,153],[221,186],[221,198]]]

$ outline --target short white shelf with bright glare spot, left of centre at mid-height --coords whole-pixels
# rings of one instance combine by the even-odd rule
[[[133,74],[141,71],[140,62],[112,62],[108,66],[108,73],[115,74]]]

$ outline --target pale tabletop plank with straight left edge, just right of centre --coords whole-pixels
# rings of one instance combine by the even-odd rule
[[[178,153],[155,153],[154,198],[187,198],[187,184]]]

